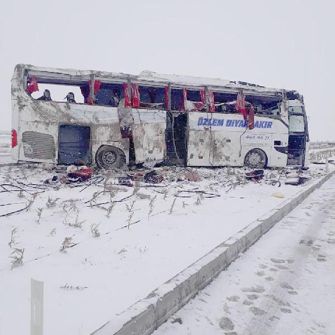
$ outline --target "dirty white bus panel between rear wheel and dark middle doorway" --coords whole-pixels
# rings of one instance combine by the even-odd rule
[[[165,158],[166,112],[132,109],[135,162],[161,162]]]

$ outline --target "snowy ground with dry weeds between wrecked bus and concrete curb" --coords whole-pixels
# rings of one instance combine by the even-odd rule
[[[311,173],[317,177],[324,168]],[[167,179],[183,172],[159,171]],[[28,334],[33,277],[45,282],[45,332],[87,334],[306,187],[268,185],[278,174],[267,171],[261,183],[236,182],[231,189],[231,181],[243,180],[242,170],[198,171],[200,182],[142,184],[135,192],[107,183],[107,192],[96,193],[104,188],[41,186],[52,171],[2,167],[2,184],[25,185],[24,191],[5,186],[13,191],[0,193],[1,204],[20,204],[1,206],[1,213],[32,202],[29,211],[0,218],[0,295],[11,302],[0,306],[1,331]],[[178,190],[192,192],[175,197]],[[25,249],[23,265],[10,270],[15,247]]]

